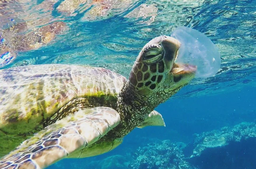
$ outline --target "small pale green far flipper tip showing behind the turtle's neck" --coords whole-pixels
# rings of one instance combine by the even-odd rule
[[[138,128],[144,128],[146,126],[164,126],[165,127],[165,122],[163,120],[162,115],[153,110],[149,116],[138,126]]]

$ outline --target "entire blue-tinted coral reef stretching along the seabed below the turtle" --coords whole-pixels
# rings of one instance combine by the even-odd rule
[[[86,158],[69,161],[53,168],[95,169],[229,169],[256,168],[256,123],[242,122],[233,127],[195,134],[193,142],[172,143],[140,137],[141,146],[134,151],[126,147],[126,154],[100,159]],[[143,144],[144,143],[144,144]]]

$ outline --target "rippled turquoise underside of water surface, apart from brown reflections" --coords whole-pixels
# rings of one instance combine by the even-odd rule
[[[254,0],[102,0],[72,4],[69,9],[63,4],[72,0],[45,0],[39,4],[23,0],[27,4],[22,5],[26,6],[21,10],[25,11],[22,15],[17,12],[19,4],[15,2],[2,6],[0,11],[16,11],[15,16],[31,20],[31,26],[62,20],[69,29],[46,46],[18,53],[17,58],[3,68],[81,64],[106,67],[128,77],[135,58],[149,40],[170,35],[178,26],[187,26],[205,33],[215,43],[222,65],[215,76],[194,79],[173,98],[212,95],[255,85]],[[102,8],[97,13],[99,6]],[[34,13],[37,15],[33,18]],[[5,24],[0,29],[12,24],[8,20],[10,15],[4,16],[0,20]],[[37,19],[40,22],[33,22]]]

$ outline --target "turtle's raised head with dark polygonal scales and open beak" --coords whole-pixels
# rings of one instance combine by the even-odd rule
[[[135,102],[154,109],[194,78],[195,66],[174,62],[180,45],[173,37],[159,36],[143,47],[127,82]]]

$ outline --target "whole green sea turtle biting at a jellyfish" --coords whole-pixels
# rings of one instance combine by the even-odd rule
[[[78,65],[0,70],[0,151],[7,154],[0,168],[45,168],[62,158],[95,156],[117,147],[136,127],[165,126],[154,109],[196,72],[174,63],[180,45],[165,35],[149,41],[129,80]]]

